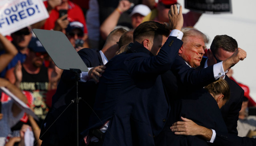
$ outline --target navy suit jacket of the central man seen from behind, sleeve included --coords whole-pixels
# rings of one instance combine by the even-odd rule
[[[169,114],[161,73],[171,68],[182,41],[169,37],[156,56],[136,42],[106,64],[89,129],[110,120],[103,145],[154,145]],[[86,136],[88,130],[83,132]],[[117,143],[116,143],[117,142]]]

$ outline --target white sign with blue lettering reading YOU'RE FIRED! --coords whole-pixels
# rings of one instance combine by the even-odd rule
[[[0,33],[7,35],[49,17],[42,0],[1,0]]]

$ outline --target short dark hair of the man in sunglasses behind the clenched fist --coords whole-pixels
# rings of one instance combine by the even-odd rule
[[[228,52],[235,52],[238,45],[236,40],[228,35],[217,35],[212,40],[210,48],[213,54],[215,54],[219,48],[223,48]]]

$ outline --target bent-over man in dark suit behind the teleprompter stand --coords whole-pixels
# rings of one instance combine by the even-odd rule
[[[78,97],[85,100],[90,106],[93,105],[98,84],[95,76],[99,76],[103,66],[109,59],[113,58],[115,52],[119,49],[118,42],[126,30],[119,28],[112,31],[102,48],[102,50],[84,48],[78,54],[87,67],[89,72],[80,74],[81,80],[78,82]],[[93,67],[93,68],[92,68]],[[92,78],[93,79],[90,79]],[[64,70],[56,94],[52,97],[52,109],[48,112],[42,126],[41,135],[48,129],[54,120],[64,111],[65,108],[76,98],[76,80],[75,75],[69,70]],[[60,118],[41,138],[42,145],[75,145],[76,144],[76,106],[71,104]],[[79,102],[79,133],[88,125],[89,116],[92,113],[91,108],[83,102]]]

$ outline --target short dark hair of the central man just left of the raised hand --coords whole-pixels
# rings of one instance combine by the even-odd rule
[[[156,21],[146,21],[141,23],[133,32],[133,41],[140,37],[154,38],[157,35],[168,37],[170,30],[164,24]]]

